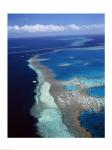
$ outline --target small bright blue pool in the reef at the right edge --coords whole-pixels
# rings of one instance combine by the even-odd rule
[[[104,97],[104,86],[92,87],[87,90],[88,94],[94,97]]]

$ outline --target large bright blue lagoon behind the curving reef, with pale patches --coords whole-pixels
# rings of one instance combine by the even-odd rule
[[[70,57],[74,56],[73,59]],[[103,50],[62,50],[57,53],[45,54],[47,58],[42,63],[53,70],[58,80],[68,80],[72,77],[99,78],[104,76]],[[57,59],[58,58],[58,59]],[[60,66],[68,63],[69,66]]]

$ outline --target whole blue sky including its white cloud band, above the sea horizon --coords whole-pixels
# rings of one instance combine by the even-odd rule
[[[9,14],[8,36],[104,34],[103,14]]]

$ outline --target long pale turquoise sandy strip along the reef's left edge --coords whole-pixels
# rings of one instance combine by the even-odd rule
[[[31,60],[29,60],[30,62]],[[38,119],[36,124],[38,132],[43,137],[73,137],[63,123],[61,112],[54,102],[54,98],[50,95],[50,83],[44,81],[41,71],[35,69],[31,63],[29,67],[38,74],[40,83],[35,91],[37,93],[35,96],[37,114],[34,117]]]

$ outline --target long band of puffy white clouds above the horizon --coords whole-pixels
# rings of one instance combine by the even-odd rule
[[[35,24],[35,25],[14,25],[8,26],[9,33],[41,33],[41,32],[63,32],[63,31],[81,31],[81,30],[94,30],[94,29],[104,29],[104,24],[90,24],[90,25],[76,25],[76,24],[69,24],[69,25],[42,25],[42,24]]]

